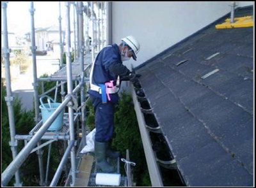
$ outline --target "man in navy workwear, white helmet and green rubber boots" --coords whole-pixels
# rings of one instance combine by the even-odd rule
[[[95,112],[95,159],[98,169],[112,172],[114,167],[106,161],[107,157],[119,157],[120,152],[111,149],[109,140],[113,136],[114,110],[118,103],[118,90],[122,80],[130,80],[134,87],[140,85],[138,76],[123,62],[136,61],[140,43],[134,36],[122,38],[120,45],[108,45],[95,57],[90,72],[90,99]],[[125,115],[125,114],[124,114]]]

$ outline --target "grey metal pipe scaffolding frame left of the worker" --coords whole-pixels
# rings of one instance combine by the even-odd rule
[[[15,122],[13,118],[13,95],[11,89],[11,81],[10,81],[10,48],[8,47],[8,29],[7,29],[7,17],[6,11],[8,2],[2,1],[1,6],[3,10],[3,49],[2,54],[4,56],[4,65],[5,65],[5,74],[6,74],[6,97],[5,101],[8,106],[8,117],[9,117],[9,125],[10,125],[10,147],[12,149],[13,161],[8,165],[6,170],[3,171],[1,175],[1,185],[5,186],[10,182],[13,175],[15,175],[15,186],[22,186],[20,182],[19,168],[24,163],[26,158],[32,152],[37,152],[38,160],[39,160],[39,171],[40,171],[40,185],[47,184],[47,176],[49,170],[49,154],[47,159],[47,171],[44,174],[44,164],[42,161],[42,147],[49,145],[49,153],[51,151],[51,143],[53,141],[63,140],[65,145],[65,153],[60,161],[58,169],[54,177],[51,180],[51,184],[49,186],[56,186],[58,180],[61,176],[61,172],[63,168],[67,170],[67,160],[70,157],[71,168],[70,168],[70,177],[72,180],[70,181],[70,185],[74,185],[76,180],[76,153],[79,153],[79,148],[83,148],[86,144],[86,95],[84,87],[88,85],[88,75],[86,72],[89,72],[90,65],[94,61],[95,58],[95,50],[100,50],[100,47],[106,46],[106,41],[109,41],[110,34],[107,34],[106,25],[108,18],[108,10],[105,10],[108,7],[109,2],[87,2],[87,8],[84,6],[86,2],[63,2],[65,3],[65,17],[66,25],[65,25],[65,35],[66,35],[66,46],[64,48],[64,40],[62,40],[62,31],[61,31],[61,2],[59,3],[60,7],[60,16],[59,19],[59,31],[60,31],[60,70],[55,73],[53,76],[49,76],[48,78],[37,78],[36,75],[36,44],[35,44],[35,27],[34,27],[34,3],[33,1],[30,4],[29,13],[31,15],[31,54],[33,60],[33,89],[34,89],[34,98],[35,98],[35,124],[36,126],[29,132],[29,135],[16,135],[15,133]],[[95,6],[93,6],[93,4]],[[74,10],[74,50],[75,50],[75,61],[71,62],[71,39],[70,39],[70,6],[73,6]],[[94,9],[97,8],[98,18],[96,18],[96,14]],[[104,8],[104,10],[103,10]],[[89,11],[91,14],[89,14]],[[100,18],[101,13],[101,18]],[[90,17],[91,15],[91,17]],[[87,20],[87,24],[85,24],[85,20]],[[95,27],[94,25],[97,25]],[[100,31],[101,24],[101,31]],[[92,27],[90,27],[92,25]],[[76,27],[77,26],[77,27]],[[95,27],[95,29],[94,29]],[[89,43],[85,41],[89,40],[89,33],[92,29],[92,48],[90,49]],[[85,30],[85,32],[84,32]],[[86,40],[84,40],[84,36]],[[101,45],[100,45],[101,39]],[[95,48],[97,46],[97,48]],[[63,66],[63,51],[65,51],[67,64]],[[63,75],[64,74],[64,75]],[[47,81],[56,81],[56,87],[43,92],[40,96],[44,96],[48,92],[57,89],[61,86],[61,105],[52,113],[51,117],[47,119],[44,123],[41,120],[40,112],[39,112],[39,101],[40,96],[38,95],[38,83]],[[60,81],[60,83],[59,83]],[[73,89],[73,82],[76,82],[76,87]],[[67,94],[65,95],[64,84],[67,83]],[[81,104],[79,104],[78,109],[81,110],[79,113],[74,113],[74,104],[77,103],[76,96],[77,94],[81,95]],[[64,114],[65,126],[59,131],[55,131],[54,133],[47,132],[47,129],[51,126],[52,122],[58,117],[58,115],[64,110],[64,108],[68,106],[68,113]],[[76,130],[75,123],[77,119],[81,119],[81,124],[77,124],[78,130]],[[81,129],[79,129],[81,127]],[[81,142],[78,146],[79,140],[76,140],[75,133],[76,131],[82,131]],[[77,132],[79,133],[79,132]],[[24,140],[25,146],[20,150],[19,154],[17,154],[17,142],[19,140]],[[45,143],[41,143],[42,140]],[[77,150],[78,147],[78,150]],[[77,150],[77,151],[76,151]]]

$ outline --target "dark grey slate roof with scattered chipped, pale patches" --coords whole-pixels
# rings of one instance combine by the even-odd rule
[[[253,27],[215,29],[229,17],[135,68],[188,186],[253,185]]]

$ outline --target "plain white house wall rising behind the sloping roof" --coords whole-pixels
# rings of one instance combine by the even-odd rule
[[[140,41],[134,67],[163,52],[218,18],[230,13],[230,1],[114,1],[113,43],[133,35]],[[236,2],[248,6],[253,1]]]

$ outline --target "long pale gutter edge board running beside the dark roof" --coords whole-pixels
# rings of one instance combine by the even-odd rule
[[[141,140],[143,143],[143,148],[145,152],[145,157],[147,159],[148,173],[150,175],[150,180],[152,187],[163,187],[163,182],[161,178],[161,173],[159,171],[159,166],[157,165],[156,158],[154,157],[154,151],[152,149],[152,143],[148,135],[145,119],[141,112],[140,104],[138,102],[134,87],[130,84],[132,100],[134,103],[134,110],[138,119],[138,124],[140,128]]]

